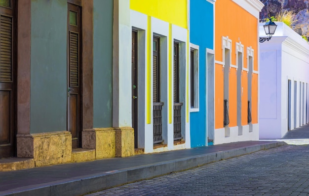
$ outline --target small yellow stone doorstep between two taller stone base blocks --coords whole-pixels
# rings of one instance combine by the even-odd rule
[[[95,160],[95,149],[78,148],[72,150],[71,162],[79,163]]]

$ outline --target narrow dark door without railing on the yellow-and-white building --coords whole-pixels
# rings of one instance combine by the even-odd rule
[[[137,31],[132,31],[132,127],[134,129],[134,147],[138,148],[138,72],[137,72]]]

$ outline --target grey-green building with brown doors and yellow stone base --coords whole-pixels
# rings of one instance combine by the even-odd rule
[[[129,1],[0,6],[0,168],[134,155]]]

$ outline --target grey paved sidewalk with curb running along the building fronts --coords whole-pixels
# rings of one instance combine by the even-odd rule
[[[0,196],[80,196],[113,186],[285,145],[243,141],[214,146],[0,172]]]

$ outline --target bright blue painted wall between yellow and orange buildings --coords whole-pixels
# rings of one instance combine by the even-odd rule
[[[190,113],[191,147],[207,145],[206,136],[206,49],[214,45],[214,4],[190,1],[190,42],[199,46],[199,111]]]

